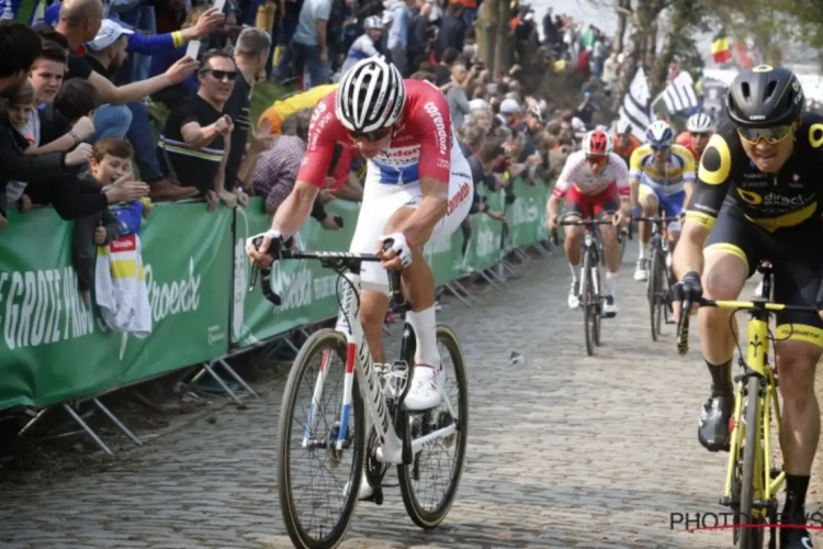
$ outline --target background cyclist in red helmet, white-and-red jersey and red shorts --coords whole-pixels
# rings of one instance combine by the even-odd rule
[[[550,231],[559,226],[560,201],[565,198],[564,220],[594,219],[615,215],[615,226],[600,227],[606,259],[606,283],[604,284],[604,313],[617,315],[617,276],[620,268],[620,246],[617,227],[625,224],[630,216],[629,168],[616,155],[611,136],[600,130],[587,133],[583,149],[572,153],[554,186],[546,204],[546,224]],[[572,288],[568,291],[570,309],[579,306],[580,244],[584,227],[566,225],[563,248],[572,270]]]

